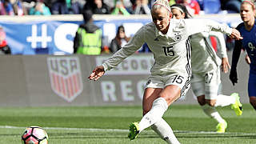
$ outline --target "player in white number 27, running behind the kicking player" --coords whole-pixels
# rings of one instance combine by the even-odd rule
[[[174,4],[170,6],[173,18],[191,18],[186,10],[186,6]],[[214,47],[211,46],[209,36],[215,36],[220,42],[220,52],[222,60],[218,58]],[[218,125],[216,126],[218,133],[224,133],[227,127],[226,121],[220,116],[215,109],[216,106],[229,106],[234,109],[237,115],[242,114],[242,104],[239,101],[238,94],[231,96],[218,94],[221,84],[220,65],[222,71],[227,73],[230,68],[226,55],[226,43],[222,33],[219,32],[201,32],[190,36],[192,47],[192,78],[191,86],[194,94],[198,98],[198,103],[202,106],[202,110],[210,118],[214,118]],[[240,107],[241,109],[240,109]]]

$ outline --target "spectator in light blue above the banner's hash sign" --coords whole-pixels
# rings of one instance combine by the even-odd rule
[[[49,7],[43,2],[36,2],[29,10],[30,15],[51,15]]]

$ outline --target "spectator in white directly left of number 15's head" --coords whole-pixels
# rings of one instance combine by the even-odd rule
[[[134,5],[134,14],[150,14],[148,0],[136,0]]]

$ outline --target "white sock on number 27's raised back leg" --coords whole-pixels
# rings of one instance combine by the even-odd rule
[[[227,95],[219,94],[216,98],[215,107],[217,106],[230,106],[231,104],[234,104],[235,98]]]

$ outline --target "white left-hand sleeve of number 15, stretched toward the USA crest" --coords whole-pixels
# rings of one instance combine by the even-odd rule
[[[102,66],[104,67],[104,70],[111,70],[112,68],[118,66],[118,64],[121,63],[125,58],[129,57],[131,54],[134,54],[134,52],[136,52],[145,42],[144,26],[142,26],[142,28],[138,30],[136,34],[134,34],[134,36],[125,46],[103,62]]]

